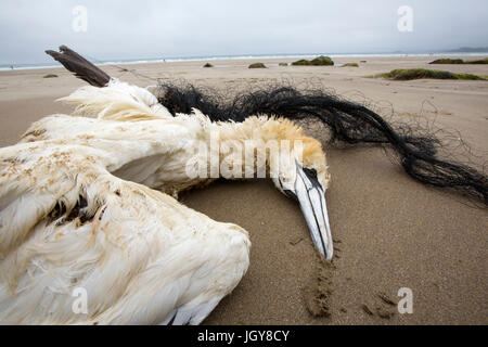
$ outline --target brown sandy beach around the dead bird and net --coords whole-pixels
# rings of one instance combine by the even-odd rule
[[[294,61],[285,59],[259,60],[266,69],[248,69],[255,60],[215,61],[213,68],[196,61],[102,68],[142,87],[157,79],[185,79],[222,90],[283,80],[320,85],[384,116],[435,120],[436,127],[457,130],[481,165],[488,158],[488,81],[365,78],[410,67],[488,75],[488,65],[433,66],[427,64],[432,60],[334,59],[359,67],[279,66]],[[47,74],[59,77],[43,78]],[[69,113],[55,100],[80,86],[84,81],[63,68],[1,72],[0,146],[16,143],[43,116]],[[307,128],[325,140],[322,128]],[[205,323],[487,324],[487,210],[413,181],[381,149],[325,152],[336,247],[330,267],[319,261],[298,205],[269,180],[219,181],[181,196],[216,220],[242,226],[253,242],[247,274]],[[402,287],[413,293],[411,314],[400,314],[396,307]],[[322,314],[325,311],[330,314]]]

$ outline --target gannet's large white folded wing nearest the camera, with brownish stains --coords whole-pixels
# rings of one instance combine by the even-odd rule
[[[159,323],[178,309],[195,323],[239,283],[244,230],[111,174],[157,149],[138,140],[51,134],[0,149],[0,322]]]

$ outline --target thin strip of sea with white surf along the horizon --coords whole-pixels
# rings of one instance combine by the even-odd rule
[[[136,65],[136,64],[162,64],[162,63],[184,63],[184,62],[207,62],[207,61],[227,61],[227,60],[262,60],[262,59],[305,59],[319,55],[329,55],[331,57],[402,57],[402,56],[488,56],[487,52],[436,52],[436,53],[306,53],[306,54],[248,54],[248,55],[229,55],[229,56],[189,56],[189,57],[168,57],[168,59],[138,59],[138,60],[110,60],[94,61],[97,65]],[[12,68],[13,67],[13,68]],[[2,64],[0,72],[26,70],[59,68],[60,64]]]

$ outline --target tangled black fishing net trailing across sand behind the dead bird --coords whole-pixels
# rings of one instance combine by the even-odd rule
[[[171,114],[200,110],[213,121],[243,121],[253,115],[277,115],[292,120],[314,118],[331,131],[332,144],[387,144],[404,171],[424,184],[454,190],[488,206],[488,177],[483,170],[444,159],[445,143],[435,132],[401,124],[394,127],[364,105],[343,100],[322,89],[300,91],[271,85],[227,98],[218,91],[190,83],[163,82],[159,102]],[[452,157],[451,157],[452,158]]]

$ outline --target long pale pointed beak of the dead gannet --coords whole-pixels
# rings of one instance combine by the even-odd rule
[[[296,198],[300,204],[316,247],[326,260],[330,260],[332,259],[333,245],[325,192],[316,175],[308,172],[307,169],[304,170],[299,165],[296,168]]]

